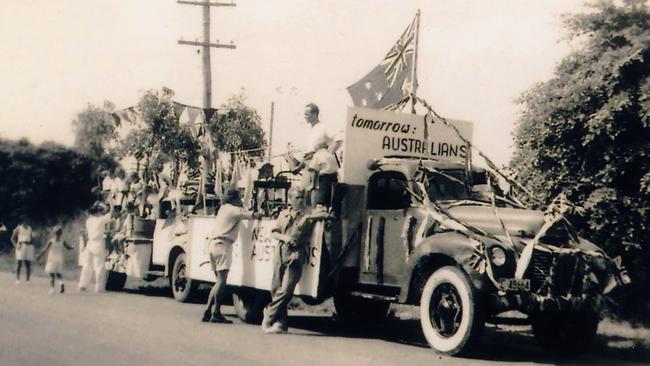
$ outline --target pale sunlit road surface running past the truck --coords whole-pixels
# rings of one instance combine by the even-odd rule
[[[417,320],[346,328],[331,316],[292,312],[287,335],[265,335],[225,315],[230,325],[199,321],[202,305],[180,304],[156,289],[48,294],[47,280],[16,286],[0,272],[0,365],[484,365],[549,364],[526,328],[486,330],[475,358],[434,354]],[[627,338],[626,338],[627,337]],[[570,363],[647,361],[647,349],[617,347],[631,336],[601,336],[601,347]],[[566,360],[564,360],[566,361]],[[633,362],[632,362],[633,363]]]

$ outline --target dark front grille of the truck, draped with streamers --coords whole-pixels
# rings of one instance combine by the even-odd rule
[[[585,262],[579,253],[534,250],[525,278],[530,290],[539,295],[563,296],[582,292]]]

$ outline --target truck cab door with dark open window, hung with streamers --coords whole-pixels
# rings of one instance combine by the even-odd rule
[[[406,184],[399,172],[378,172],[368,181],[359,275],[364,284],[400,284],[406,264],[402,233],[411,203]]]

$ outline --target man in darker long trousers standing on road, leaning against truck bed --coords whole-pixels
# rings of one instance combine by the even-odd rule
[[[302,275],[302,265],[307,258],[312,228],[317,220],[326,219],[324,210],[311,210],[305,206],[305,191],[292,187],[289,190],[290,206],[280,212],[272,230],[274,239],[280,241],[279,260],[273,274],[271,302],[264,308],[262,330],[265,333],[286,333],[287,306]]]

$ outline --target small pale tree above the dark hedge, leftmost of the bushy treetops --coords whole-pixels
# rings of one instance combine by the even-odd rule
[[[113,118],[115,107],[104,102],[103,107],[88,104],[72,121],[77,151],[95,158],[109,155],[109,146],[117,139],[117,125]]]

